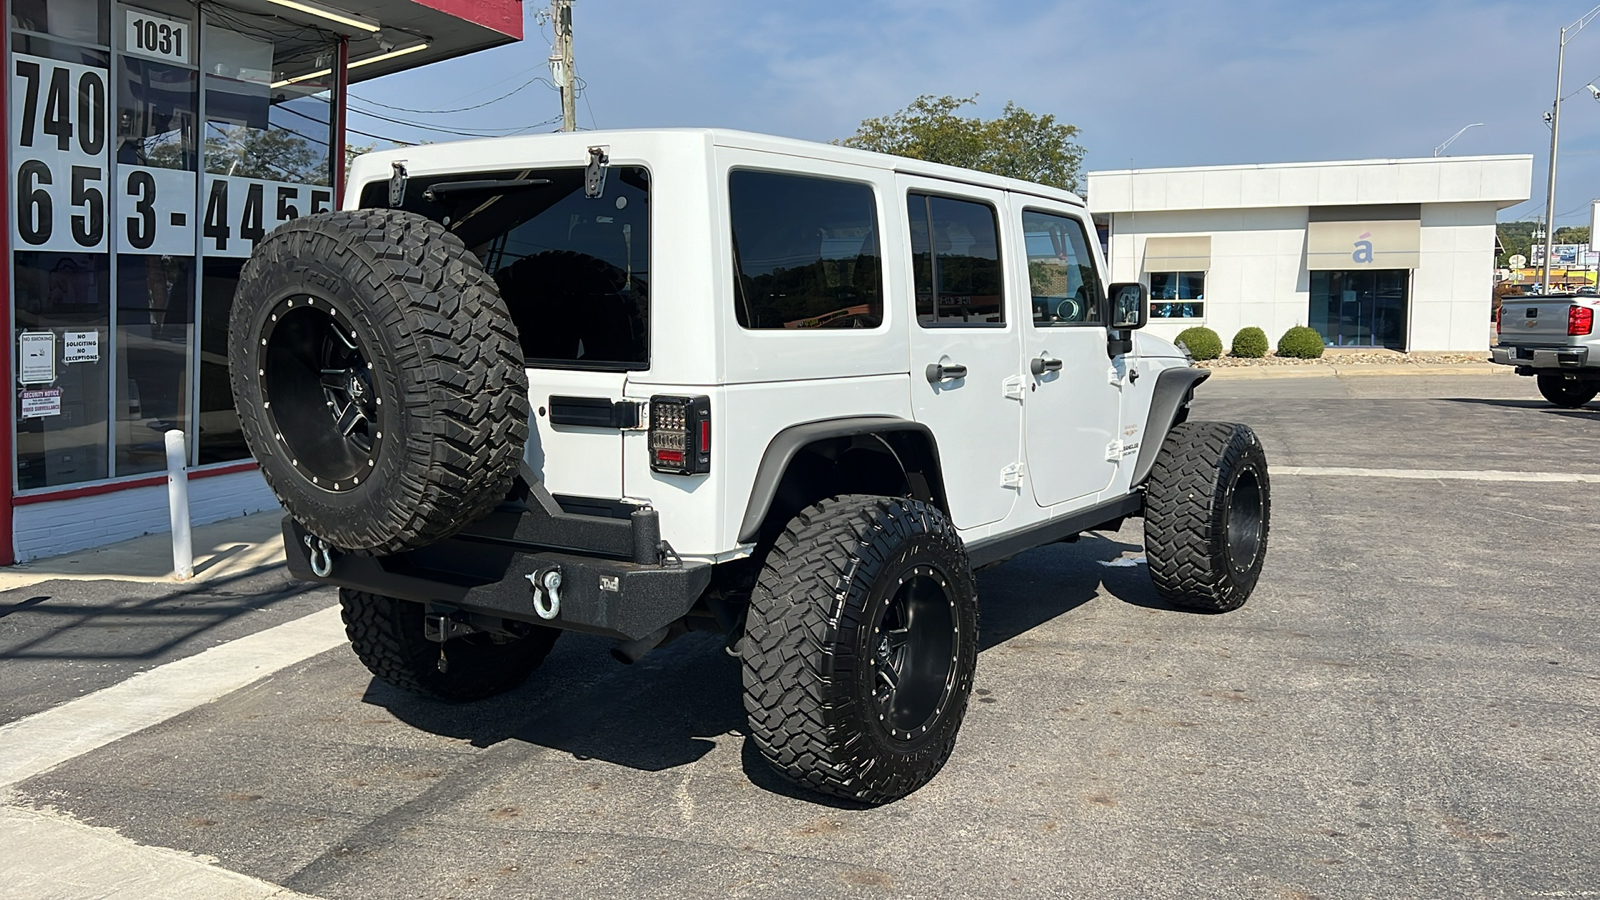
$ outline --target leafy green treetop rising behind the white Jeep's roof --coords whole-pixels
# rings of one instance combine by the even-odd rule
[[[998,119],[957,114],[976,102],[978,94],[923,94],[899,112],[864,119],[854,135],[835,143],[1078,191],[1083,147],[1074,141],[1077,125],[1013,102],[1005,104]]]

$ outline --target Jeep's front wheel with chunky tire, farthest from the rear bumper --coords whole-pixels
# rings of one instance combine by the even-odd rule
[[[1243,424],[1173,428],[1150,469],[1144,551],[1155,589],[1208,612],[1245,605],[1261,578],[1272,519],[1267,455]]]

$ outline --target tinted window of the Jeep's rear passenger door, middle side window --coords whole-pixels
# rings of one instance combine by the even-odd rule
[[[910,219],[917,322],[1003,325],[1005,279],[994,207],[910,194],[906,211]]]

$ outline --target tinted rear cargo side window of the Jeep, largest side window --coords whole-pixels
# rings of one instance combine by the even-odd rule
[[[883,264],[872,187],[728,175],[734,314],[746,328],[877,328]]]

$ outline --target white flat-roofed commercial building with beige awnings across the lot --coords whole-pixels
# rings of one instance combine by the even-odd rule
[[[1533,157],[1091,171],[1114,280],[1150,285],[1150,330],[1224,346],[1310,325],[1328,346],[1488,352],[1494,218]]]

